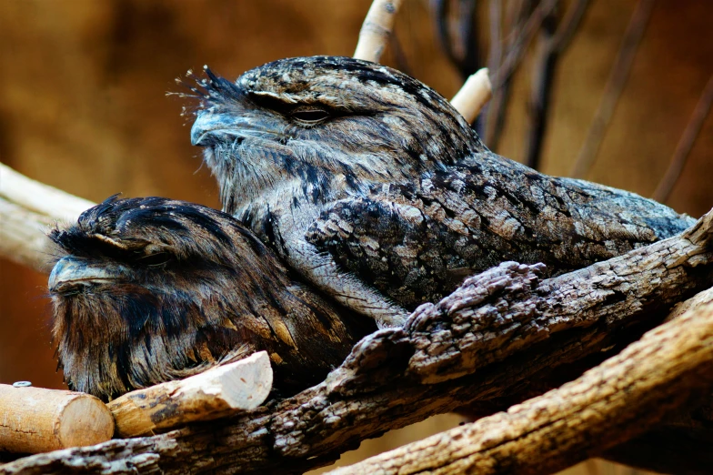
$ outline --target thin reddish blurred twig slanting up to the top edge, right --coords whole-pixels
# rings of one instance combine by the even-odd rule
[[[614,108],[617,106],[621,91],[627,84],[628,74],[634,63],[638,45],[648,25],[648,19],[651,17],[654,2],[655,0],[639,0],[634,14],[631,15],[627,31],[624,33],[624,40],[614,60],[614,66],[611,68],[607,85],[604,87],[602,99],[587,131],[587,138],[585,138],[585,142],[577,155],[577,160],[572,167],[570,173],[572,177],[585,177],[597,158],[599,146],[604,134],[607,132],[609,120],[614,114]]]

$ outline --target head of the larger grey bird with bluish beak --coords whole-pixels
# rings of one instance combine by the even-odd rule
[[[330,184],[363,191],[483,149],[443,96],[387,66],[314,56],[256,67],[235,83],[206,75],[194,88],[191,140],[206,147],[228,212],[295,178],[318,201]]]

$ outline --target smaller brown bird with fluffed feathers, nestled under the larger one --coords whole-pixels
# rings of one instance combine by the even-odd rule
[[[49,233],[59,368],[111,400],[266,350],[275,394],[325,378],[372,320],[305,285],[234,217],[163,197],[110,197]]]

